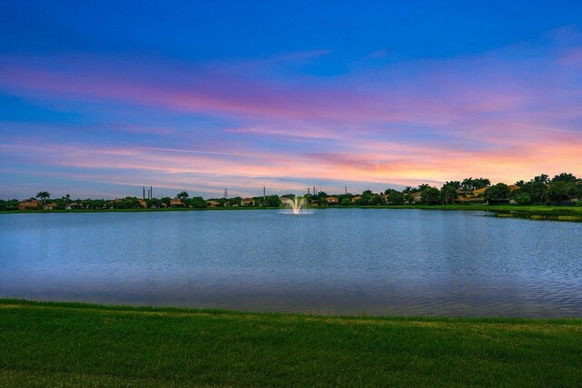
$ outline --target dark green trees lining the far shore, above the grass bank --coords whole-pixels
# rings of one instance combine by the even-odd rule
[[[176,194],[175,198],[139,199],[128,196],[121,199],[76,199],[72,200],[69,194],[61,198],[51,199],[51,194],[44,191],[35,195],[35,198],[25,200],[30,202],[38,199],[39,206],[50,204],[55,209],[137,209],[137,208],[164,208],[188,207],[206,208],[216,207],[278,207],[282,205],[282,198],[294,198],[295,194],[255,196],[243,199],[240,196],[232,198],[210,198],[201,196],[190,197],[184,191]],[[447,181],[440,188],[431,184],[407,186],[404,190],[386,189],[382,193],[373,193],[365,190],[361,194],[332,194],[320,191],[317,194],[305,194],[306,203],[315,206],[374,206],[374,205],[401,205],[401,204],[554,204],[554,205],[581,205],[582,179],[568,173],[557,174],[550,178],[547,174],[540,174],[529,181],[518,181],[516,184],[491,184],[487,178],[466,178],[462,181]],[[179,201],[176,201],[179,199]],[[0,211],[16,210],[23,201],[16,199],[0,200]]]

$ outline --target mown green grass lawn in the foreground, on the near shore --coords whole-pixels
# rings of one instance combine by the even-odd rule
[[[0,386],[581,386],[582,320],[0,300]]]

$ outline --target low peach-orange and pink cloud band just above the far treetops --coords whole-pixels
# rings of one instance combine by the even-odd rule
[[[115,184],[141,185],[150,182],[165,187],[252,187],[259,183],[296,190],[330,177],[345,184],[411,184],[483,175],[513,183],[542,172],[567,170],[577,174],[582,140],[548,137],[545,144],[521,142],[504,150],[483,153],[455,151],[446,147],[408,147],[402,154],[386,152],[383,144],[360,144],[369,152],[351,154],[229,154],[198,153],[192,150],[91,147],[86,144],[0,144],[22,164],[75,168],[69,174],[79,179]],[[540,163],[540,161],[542,161]],[[112,174],[102,171],[116,171]],[[50,173],[65,176],[68,173]],[[578,173],[579,174],[579,173]],[[146,179],[144,178],[146,177]],[[305,184],[285,183],[301,177]]]

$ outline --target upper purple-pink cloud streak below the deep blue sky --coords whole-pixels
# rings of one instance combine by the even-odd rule
[[[392,85],[383,89],[386,81],[369,79],[374,73],[368,79],[340,78],[336,85],[313,79],[283,85],[224,71],[213,72],[202,66],[174,73],[174,78],[168,81],[150,75],[161,73],[167,77],[181,67],[170,66],[158,72],[158,65],[152,65],[149,70],[134,71],[123,63],[99,67],[102,61],[86,66],[78,62],[76,58],[58,58],[50,61],[50,66],[37,67],[29,65],[26,58],[4,58],[0,60],[0,85],[41,98],[121,101],[257,119],[348,123],[416,122],[423,118],[434,120],[435,116],[502,111],[516,107],[526,98],[515,88],[504,87],[503,95],[483,85],[467,88],[467,81],[459,81],[447,72],[431,77],[424,85]],[[354,85],[356,80],[360,86]]]

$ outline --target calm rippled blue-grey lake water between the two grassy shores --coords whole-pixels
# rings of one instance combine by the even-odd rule
[[[0,297],[581,316],[582,224],[382,209],[0,214]]]

